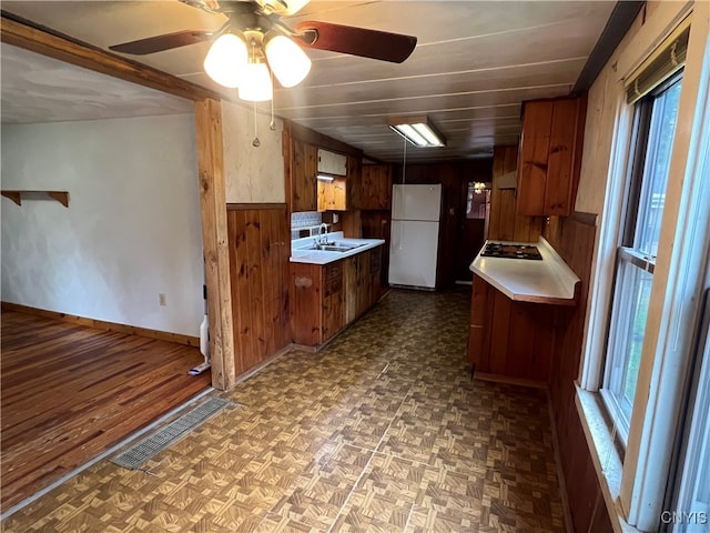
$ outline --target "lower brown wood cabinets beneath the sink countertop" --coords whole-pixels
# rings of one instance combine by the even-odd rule
[[[320,346],[381,296],[382,247],[325,265],[291,263],[296,344]]]

